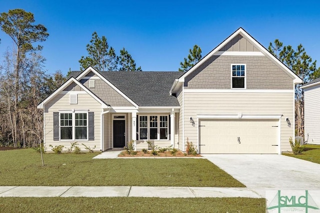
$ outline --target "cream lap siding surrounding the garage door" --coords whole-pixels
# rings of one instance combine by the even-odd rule
[[[282,114],[280,119],[281,152],[290,152],[289,137],[294,137],[293,90],[292,93],[249,92],[185,92],[184,141],[198,145],[197,114]],[[192,117],[195,125],[189,123]],[[291,121],[288,127],[285,118]]]

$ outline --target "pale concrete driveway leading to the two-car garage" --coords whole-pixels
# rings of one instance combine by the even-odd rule
[[[284,155],[202,156],[250,189],[320,190],[320,164]]]

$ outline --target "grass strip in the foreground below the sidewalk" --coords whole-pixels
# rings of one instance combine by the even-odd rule
[[[253,198],[0,198],[1,213],[264,213]]]

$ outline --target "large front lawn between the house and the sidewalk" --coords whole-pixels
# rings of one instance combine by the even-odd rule
[[[0,151],[0,186],[245,187],[205,159],[92,159],[97,153]]]

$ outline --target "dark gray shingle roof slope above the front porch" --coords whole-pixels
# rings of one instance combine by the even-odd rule
[[[183,74],[181,72],[91,70],[138,106],[179,106],[176,97],[169,95],[169,89],[174,79]],[[85,75],[80,71],[72,71],[70,76],[80,79]]]

